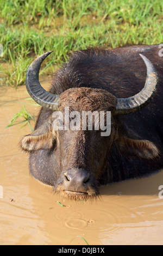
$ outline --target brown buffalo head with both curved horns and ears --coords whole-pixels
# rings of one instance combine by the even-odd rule
[[[141,56],[147,67],[146,83],[142,91],[132,97],[120,99],[104,89],[86,87],[70,88],[61,95],[55,95],[46,92],[39,83],[40,66],[49,53],[42,54],[29,66],[26,87],[39,105],[50,110],[46,118],[39,120],[39,125],[36,124],[35,131],[21,139],[21,148],[30,153],[32,175],[53,185],[55,192],[75,200],[96,198],[114,142],[122,154],[142,159],[158,156],[158,149],[152,142],[136,138],[121,120],[121,115],[139,111],[153,99],[158,87],[158,75],[152,63]],[[80,127],[54,129],[66,127],[66,107],[69,109],[70,122],[76,118],[71,113],[79,113]],[[61,120],[54,115],[56,112],[61,114]],[[105,124],[106,113],[111,113],[109,136],[102,136],[102,130],[95,129],[96,117],[92,118],[92,129],[89,129],[88,119],[86,128],[81,128],[83,113],[88,112],[96,112],[97,115],[103,112]]]

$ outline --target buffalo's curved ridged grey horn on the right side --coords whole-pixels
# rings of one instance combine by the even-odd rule
[[[116,114],[130,114],[145,107],[154,97],[158,89],[159,77],[153,64],[142,54],[139,54],[146,64],[147,78],[141,92],[126,99],[117,98]]]

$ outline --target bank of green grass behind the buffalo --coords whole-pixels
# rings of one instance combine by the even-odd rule
[[[80,48],[160,44],[162,10],[162,0],[1,0],[0,81],[24,84],[29,64],[49,50],[47,74]]]

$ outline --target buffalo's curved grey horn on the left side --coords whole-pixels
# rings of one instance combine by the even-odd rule
[[[26,88],[32,99],[45,108],[58,110],[59,96],[57,94],[48,93],[42,88],[39,82],[40,66],[45,58],[53,51],[43,53],[30,64],[26,74]]]

